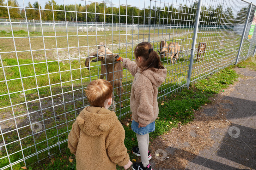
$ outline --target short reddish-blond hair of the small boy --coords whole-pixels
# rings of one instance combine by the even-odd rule
[[[85,92],[91,106],[104,107],[105,101],[112,97],[112,85],[107,80],[94,80],[88,84]]]

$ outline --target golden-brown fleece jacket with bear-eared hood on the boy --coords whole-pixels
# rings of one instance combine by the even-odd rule
[[[124,145],[125,130],[114,111],[85,107],[68,136],[70,152],[76,154],[76,169],[115,170],[124,166],[129,155]]]

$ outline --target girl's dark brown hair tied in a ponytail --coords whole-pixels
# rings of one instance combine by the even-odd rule
[[[150,69],[157,71],[158,69],[164,69],[159,55],[152,49],[153,46],[148,42],[139,43],[134,49],[134,55],[142,57],[144,62],[140,65],[141,72]]]

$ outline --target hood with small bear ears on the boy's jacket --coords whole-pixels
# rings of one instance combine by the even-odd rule
[[[114,111],[103,107],[85,107],[76,117],[80,129],[90,136],[100,136],[110,130],[118,120]]]

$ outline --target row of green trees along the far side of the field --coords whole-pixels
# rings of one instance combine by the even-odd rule
[[[6,0],[0,0],[0,5],[5,6]],[[20,7],[16,0],[9,0],[9,6]],[[127,24],[181,24],[191,25],[196,18],[197,2],[190,6],[180,4],[178,7],[155,7],[152,9],[138,9],[129,5],[108,7],[109,4],[90,3],[81,4],[57,4],[54,0],[48,1],[44,9],[38,2],[28,3],[26,8],[27,19],[60,20],[60,21],[84,21],[84,22],[109,22]],[[23,7],[23,5],[22,5]],[[39,8],[41,9],[39,11]],[[149,7],[148,7],[149,8]],[[53,12],[52,12],[53,9]],[[228,25],[244,24],[248,7],[241,8],[236,15],[232,8],[223,9],[222,5],[216,8],[202,6],[200,24],[203,25]],[[56,11],[55,11],[56,10]],[[64,12],[69,11],[69,12]],[[76,12],[77,11],[77,12]],[[25,10],[9,8],[11,18],[25,18]],[[65,15],[66,14],[66,15]],[[0,17],[9,17],[7,8],[0,7]],[[253,16],[251,16],[253,17]]]

